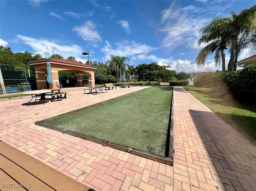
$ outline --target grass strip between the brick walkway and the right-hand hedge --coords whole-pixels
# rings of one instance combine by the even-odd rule
[[[256,107],[242,105],[231,95],[211,94],[208,88],[184,88],[256,145]]]

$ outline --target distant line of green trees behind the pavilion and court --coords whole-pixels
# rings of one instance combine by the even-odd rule
[[[10,67],[9,65],[14,66],[25,66],[27,69],[27,62],[38,61],[50,58],[60,58],[64,59],[62,55],[53,54],[49,58],[44,58],[40,54],[34,54],[30,52],[22,53],[13,53],[10,47],[0,46],[0,64],[1,69],[9,71],[18,71],[23,70],[22,67]],[[76,58],[73,56],[67,57],[66,60],[76,61]],[[90,61],[90,65],[98,67],[95,70],[95,73],[103,73],[105,75],[113,75],[116,77],[117,82],[122,81],[123,75],[126,75],[126,79],[132,79],[132,75],[136,76],[138,81],[170,81],[170,80],[182,80],[188,79],[189,74],[180,72],[176,73],[174,70],[168,70],[165,66],[160,66],[157,63],[150,64],[140,64],[138,66],[129,65],[125,63],[130,61],[128,57],[115,56],[111,55],[110,59],[106,63]],[[82,63],[82,62],[80,62]],[[89,65],[89,61],[86,61],[86,64]],[[34,67],[30,66],[30,73],[34,74]],[[59,77],[75,77],[74,73],[59,71]]]

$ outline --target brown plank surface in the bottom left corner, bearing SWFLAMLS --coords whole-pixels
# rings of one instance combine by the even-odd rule
[[[0,140],[1,190],[94,191]]]

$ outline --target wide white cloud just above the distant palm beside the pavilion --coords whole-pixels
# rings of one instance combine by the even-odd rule
[[[130,59],[143,59],[147,58],[148,53],[159,49],[158,47],[151,47],[146,44],[137,43],[135,41],[121,41],[114,44],[116,48],[110,48],[107,45],[100,50],[104,52],[105,57],[102,58],[103,61],[107,61],[110,55],[126,56]]]

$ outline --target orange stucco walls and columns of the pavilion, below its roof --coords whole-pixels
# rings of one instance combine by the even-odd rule
[[[37,89],[46,89],[46,74],[47,71],[46,64],[34,65],[35,74],[36,74],[36,85]],[[83,86],[83,73],[88,73],[89,86],[95,85],[94,79],[94,69],[84,68],[84,67],[75,67],[70,65],[63,65],[62,63],[56,64],[51,63],[52,69],[52,79],[53,83],[50,84],[50,88],[60,88],[58,71],[67,71],[77,74],[77,86]]]

